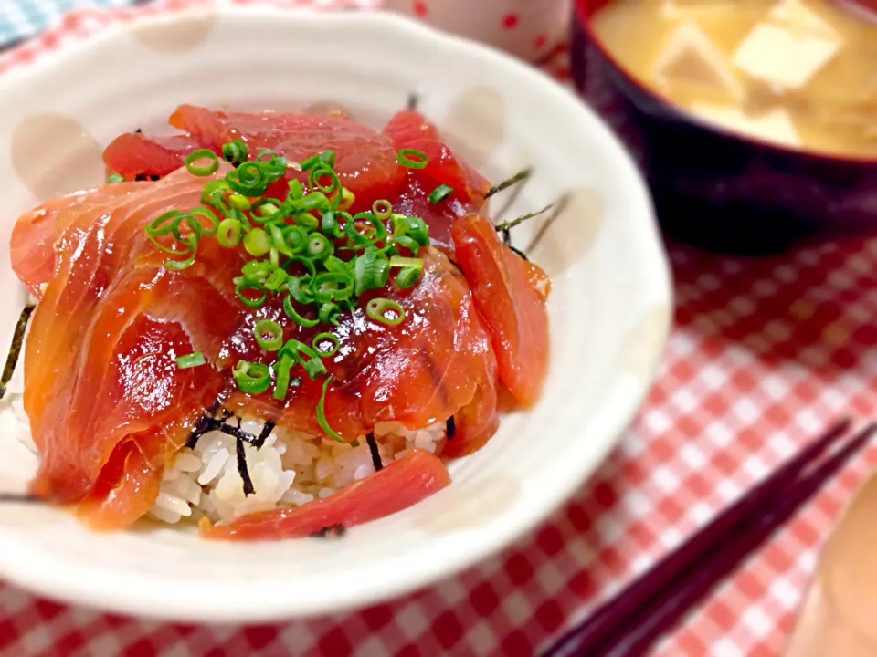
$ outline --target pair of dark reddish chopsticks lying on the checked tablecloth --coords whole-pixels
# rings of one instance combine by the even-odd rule
[[[666,631],[693,602],[761,545],[867,443],[874,425],[857,433],[824,463],[812,466],[846,433],[850,423],[843,420],[834,424],[544,654],[561,654],[569,649],[575,649],[570,654],[640,654],[643,646]]]

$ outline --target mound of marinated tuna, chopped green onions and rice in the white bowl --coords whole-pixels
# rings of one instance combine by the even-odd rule
[[[536,401],[550,282],[422,115],[171,122],[13,232],[34,495],[100,529],[309,536],[432,495],[501,399]]]

